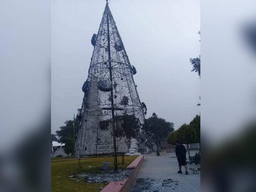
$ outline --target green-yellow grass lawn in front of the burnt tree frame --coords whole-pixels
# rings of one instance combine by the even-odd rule
[[[125,156],[125,164],[121,165],[122,157],[117,158],[118,168],[126,168],[138,156]],[[59,159],[59,158],[58,158]],[[52,159],[53,160],[53,159]],[[54,159],[57,160],[57,159]],[[82,168],[80,172],[97,173],[102,167],[102,162],[111,162],[111,168],[114,168],[113,157],[97,157],[81,159]],[[89,168],[88,166],[93,166]],[[78,160],[51,162],[51,191],[52,192],[99,192],[99,187],[105,187],[103,183],[88,183],[83,179],[71,180],[69,175],[78,172]]]

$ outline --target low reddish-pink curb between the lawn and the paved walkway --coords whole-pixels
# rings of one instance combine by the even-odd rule
[[[121,181],[110,182],[106,187],[104,187],[103,190],[101,190],[101,192],[130,192],[131,188],[133,187],[133,184],[135,183],[136,177],[140,171],[143,161],[144,161],[144,155],[140,155],[139,157],[137,157],[127,167],[127,168],[134,168],[130,177]]]

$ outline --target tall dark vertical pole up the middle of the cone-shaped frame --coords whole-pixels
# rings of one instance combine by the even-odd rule
[[[107,13],[107,29],[108,29],[108,64],[109,64],[109,78],[112,82],[112,66],[111,66],[111,53],[110,53],[110,37],[109,37],[109,16]],[[112,111],[112,128],[113,128],[113,145],[114,145],[114,172],[117,172],[117,153],[116,153],[116,134],[115,134],[115,111],[114,111],[114,97],[113,97],[113,87],[110,91],[111,93],[111,111]]]

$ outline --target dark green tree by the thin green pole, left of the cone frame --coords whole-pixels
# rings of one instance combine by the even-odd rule
[[[75,133],[77,133],[79,126],[79,120],[75,119]],[[72,120],[65,121],[65,125],[60,127],[60,130],[56,131],[56,135],[59,138],[60,143],[65,143],[65,149],[69,151],[72,148],[72,154],[74,154],[74,126]],[[76,138],[75,138],[76,139]],[[72,141],[71,141],[72,140]],[[65,151],[66,152],[66,151]],[[71,153],[71,152],[69,152]],[[67,153],[67,154],[69,154]]]

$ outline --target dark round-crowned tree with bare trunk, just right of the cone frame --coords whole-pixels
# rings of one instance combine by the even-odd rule
[[[167,122],[163,118],[158,118],[155,113],[153,113],[153,116],[146,119],[146,125],[143,125],[143,130],[147,131],[150,136],[152,136],[153,140],[155,141],[157,145],[157,155],[160,155],[159,153],[159,146],[162,140],[166,139],[168,136],[168,133],[170,131],[173,131],[173,123]]]

